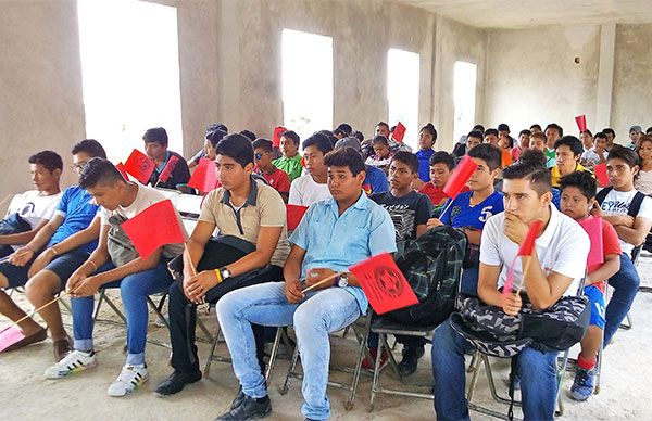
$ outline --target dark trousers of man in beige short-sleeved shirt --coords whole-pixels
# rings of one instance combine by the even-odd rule
[[[236,260],[248,253],[229,245],[209,242],[204,254],[197,265],[197,271],[217,269]],[[226,293],[258,283],[283,280],[283,268],[268,266],[264,269],[252,270],[221,282],[206,292],[208,303],[217,303]],[[170,340],[172,343],[172,367],[175,371],[186,373],[199,372],[195,329],[197,327],[197,305],[189,302],[179,282],[170,286]],[[253,326],[259,362],[262,368],[264,355],[264,329]]]

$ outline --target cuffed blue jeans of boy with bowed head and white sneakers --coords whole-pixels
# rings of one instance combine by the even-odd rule
[[[102,289],[120,288],[125,316],[127,318],[127,363],[145,363],[145,344],[147,342],[147,323],[149,309],[147,296],[167,291],[172,277],[167,271],[167,260],[161,261],[152,269],[127,275],[121,281],[102,285]],[[109,263],[102,266],[97,273],[114,269],[115,265]],[[92,349],[92,311],[95,297],[72,298],[73,305],[73,335],[75,349]]]

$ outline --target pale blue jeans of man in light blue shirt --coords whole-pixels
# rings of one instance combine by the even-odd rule
[[[328,333],[340,330],[360,317],[355,297],[340,288],[311,291],[299,304],[288,303],[285,282],[268,282],[242,288],[226,294],[217,302],[217,317],[234,372],[242,392],[250,397],[267,394],[265,378],[255,356],[251,323],[284,327],[294,326],[297,346],[303,366],[304,404],[306,418],[325,420],[330,417],[326,396],[330,343]]]

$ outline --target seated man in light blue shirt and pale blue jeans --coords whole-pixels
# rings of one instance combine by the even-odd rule
[[[367,310],[367,298],[348,268],[397,247],[389,214],[362,191],[365,166],[360,153],[343,148],[328,153],[324,162],[333,199],[313,204],[292,233],[285,283],[234,291],[217,303],[220,326],[241,384],[233,409],[218,420],[262,418],[272,411],[265,378],[253,353],[252,323],[294,326],[304,373],[303,416],[314,420],[330,416],[326,396],[328,333],[351,324]],[[342,273],[301,292],[336,271]]]

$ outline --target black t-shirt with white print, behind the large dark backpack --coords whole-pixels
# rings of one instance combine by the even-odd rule
[[[372,194],[371,199],[391,216],[397,241],[415,239],[416,226],[426,224],[432,214],[432,204],[428,196],[415,191],[403,197],[396,197],[391,192],[384,192]]]

